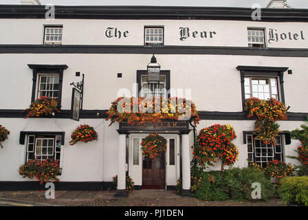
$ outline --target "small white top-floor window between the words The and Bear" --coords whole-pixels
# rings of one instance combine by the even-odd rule
[[[164,27],[144,27],[144,45],[164,45]]]

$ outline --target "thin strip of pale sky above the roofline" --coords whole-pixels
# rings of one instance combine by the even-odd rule
[[[40,0],[43,5],[176,5],[251,8],[259,3],[265,8],[270,0]],[[0,0],[0,4],[19,4],[21,0]],[[308,8],[308,0],[287,0],[292,8]]]

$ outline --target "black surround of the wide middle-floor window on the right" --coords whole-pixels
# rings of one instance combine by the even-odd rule
[[[285,92],[283,89],[283,74],[289,67],[258,67],[258,66],[237,66],[237,70],[241,72],[241,93],[242,93],[242,106],[244,110],[245,102],[245,77],[276,77],[278,80],[278,96],[280,101],[285,103]]]

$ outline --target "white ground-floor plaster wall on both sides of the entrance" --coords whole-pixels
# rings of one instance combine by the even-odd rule
[[[281,131],[300,128],[303,122],[279,121]],[[19,144],[20,131],[65,131],[65,145],[61,146],[61,167],[63,173],[59,177],[61,181],[112,181],[112,177],[118,173],[118,124],[108,126],[104,119],[81,120],[80,123],[69,119],[23,119],[0,118],[3,124],[10,130],[9,139],[3,142],[4,148],[0,148],[0,181],[28,181],[18,173],[19,167],[25,163],[25,144]],[[78,143],[69,145],[70,134],[78,124],[90,124],[98,131],[98,141],[87,144]],[[248,166],[247,144],[243,144],[243,131],[253,129],[253,120],[201,120],[197,125],[197,133],[203,128],[213,124],[230,124],[234,126],[237,138],[233,143],[239,150],[238,161],[235,167]],[[193,132],[190,132],[190,146],[193,146]],[[296,148],[300,142],[292,140],[285,145],[285,155],[296,156]],[[192,148],[190,148],[192,159]],[[299,164],[295,159],[285,158],[285,162]],[[219,170],[218,163],[214,169]]]

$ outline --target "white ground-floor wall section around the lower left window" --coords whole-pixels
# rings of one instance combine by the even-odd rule
[[[23,119],[0,118],[0,124],[5,126],[10,135],[0,148],[0,181],[28,181],[18,173],[19,167],[25,163],[25,144],[19,144],[20,131],[65,131],[65,144],[61,145],[61,162],[63,168],[61,181],[102,181],[103,179],[103,143],[104,123],[101,120],[69,119]],[[79,124],[90,124],[96,127],[99,134],[97,142],[69,145],[70,136]]]

